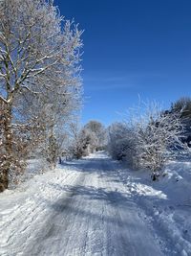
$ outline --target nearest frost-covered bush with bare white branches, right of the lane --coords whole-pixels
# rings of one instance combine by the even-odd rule
[[[156,178],[163,164],[183,147],[180,141],[183,129],[180,117],[153,108],[135,126],[138,168],[150,169]]]

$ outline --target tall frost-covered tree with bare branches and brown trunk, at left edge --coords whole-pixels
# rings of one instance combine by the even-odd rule
[[[59,15],[53,1],[1,1],[0,20],[0,101],[4,105],[2,137],[5,151],[0,183],[7,188],[9,174],[19,161],[14,151],[14,134],[18,131],[12,126],[19,116],[17,104],[22,97],[25,102],[29,94],[31,99],[36,96],[41,100],[48,91],[63,96],[64,109],[71,99],[78,99],[81,32]],[[59,105],[56,104],[55,112]],[[38,106],[41,106],[40,101]],[[53,119],[54,115],[58,117],[55,112],[53,109]],[[32,115],[36,124],[40,116],[39,111]],[[25,126],[24,123],[22,118],[17,121],[17,129],[18,125]],[[53,125],[54,132],[55,123]]]

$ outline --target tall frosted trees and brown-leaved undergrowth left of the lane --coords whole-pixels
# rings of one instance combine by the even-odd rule
[[[53,1],[0,1],[0,190],[42,154],[53,168],[81,105],[82,31]]]

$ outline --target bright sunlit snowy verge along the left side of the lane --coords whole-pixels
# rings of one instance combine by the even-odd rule
[[[32,167],[32,166],[31,166]],[[32,174],[34,175],[34,174]],[[63,197],[63,184],[77,178],[65,166],[34,175],[14,190],[0,195],[0,255],[22,255],[23,248],[40,229],[53,201]]]

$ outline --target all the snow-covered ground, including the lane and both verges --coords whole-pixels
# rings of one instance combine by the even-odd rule
[[[0,195],[0,255],[191,255],[190,163],[152,182],[96,152]],[[188,178],[189,176],[189,178]]]

